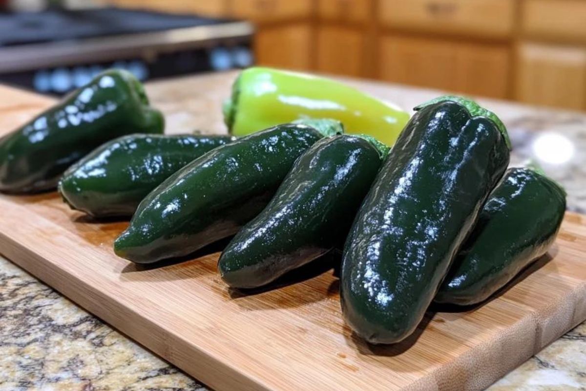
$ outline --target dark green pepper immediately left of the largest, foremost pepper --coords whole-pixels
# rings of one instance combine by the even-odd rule
[[[363,138],[316,142],[224,249],[223,280],[233,288],[260,287],[331,250],[346,236],[380,165],[379,151]]]

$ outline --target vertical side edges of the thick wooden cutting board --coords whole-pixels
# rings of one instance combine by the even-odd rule
[[[2,203],[4,202],[0,199],[0,205]],[[25,206],[13,204],[12,207],[19,209],[19,216],[25,219],[37,217],[43,220],[43,225],[54,225],[50,220],[43,216],[35,216],[34,213],[32,213],[33,216],[26,216],[29,212]],[[584,216],[573,213],[568,213],[567,219],[584,222]],[[35,223],[38,224],[39,221]],[[586,232],[586,227],[584,231]],[[88,287],[87,281],[60,268],[59,254],[43,256],[41,254],[43,251],[26,247],[26,244],[13,237],[13,234],[12,231],[0,232],[0,249],[8,259],[203,383],[226,390],[281,389],[272,387],[264,379],[240,373],[231,368],[230,363],[223,362],[221,358],[210,355],[205,349],[200,349],[180,336],[169,333],[151,319],[143,317],[134,309],[125,307],[115,292],[104,292],[96,287]],[[546,331],[544,325],[549,325],[551,319],[557,322],[557,326],[553,332],[544,332]],[[482,356],[475,355],[477,349],[471,349],[448,365],[428,373],[407,387],[401,387],[401,390],[435,390],[438,387],[443,389],[442,387],[448,387],[448,385],[451,388],[456,384],[458,389],[482,389],[519,366],[584,319],[586,319],[586,281],[579,288],[568,291],[564,297],[560,297],[560,300],[550,302],[545,313],[532,312],[530,317],[523,318],[522,322],[518,322],[515,327],[506,329],[496,335],[492,341],[478,347],[477,349],[483,349]],[[527,333],[527,327],[534,329],[534,333]],[[148,335],[148,338],[145,338],[145,335]],[[507,352],[509,346],[510,349],[515,350],[515,355],[503,354]],[[522,353],[519,353],[519,349],[522,349]],[[196,367],[193,366],[195,358],[197,358]],[[483,368],[483,371],[478,371],[478,368]],[[464,373],[466,370],[472,370],[477,377],[454,378],[454,373]]]

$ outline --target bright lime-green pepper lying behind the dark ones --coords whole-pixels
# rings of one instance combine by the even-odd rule
[[[339,120],[346,133],[389,146],[409,120],[405,111],[338,81],[264,67],[243,70],[224,103],[224,121],[236,136],[305,117]]]

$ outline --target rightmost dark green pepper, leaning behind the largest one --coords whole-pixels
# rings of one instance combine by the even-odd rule
[[[565,192],[531,168],[511,168],[490,193],[435,301],[485,301],[547,252],[565,212]]]

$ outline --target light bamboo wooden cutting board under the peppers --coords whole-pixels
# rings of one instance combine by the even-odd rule
[[[4,132],[52,102],[0,97]],[[586,319],[586,216],[573,213],[515,286],[475,310],[428,312],[413,338],[381,347],[344,324],[331,271],[241,295],[217,252],[156,268],[116,257],[127,223],[94,222],[56,193],[2,195],[0,210],[4,256],[217,390],[477,390]]]

